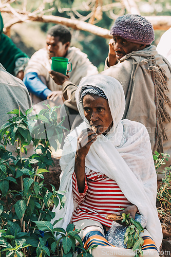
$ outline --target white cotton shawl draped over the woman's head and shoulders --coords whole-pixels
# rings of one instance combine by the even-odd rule
[[[74,210],[72,195],[72,173],[74,171],[77,138],[81,131],[90,127],[84,116],[80,91],[84,85],[101,88],[107,96],[113,127],[109,133],[99,135],[90,146],[85,160],[85,171],[105,174],[116,180],[125,197],[136,205],[142,215],[147,217],[146,229],[153,237],[158,249],[162,242],[162,229],[156,209],[157,176],[154,167],[149,135],[144,125],[138,122],[121,120],[125,97],[121,84],[105,75],[83,78],[75,93],[78,109],[84,122],[72,131],[63,148],[60,160],[62,169],[60,190],[66,190],[65,207],[60,211],[54,209],[55,219],[63,217],[56,227],[66,228]]]

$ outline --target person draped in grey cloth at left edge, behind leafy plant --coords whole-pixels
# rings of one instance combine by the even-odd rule
[[[28,90],[24,83],[9,74],[5,68],[0,64],[0,85],[1,85],[1,100],[0,100],[0,128],[11,119],[14,115],[7,114],[13,109],[19,109],[25,114],[25,111],[31,107],[31,99]],[[13,152],[16,156],[16,147],[7,144],[7,150]],[[34,153],[33,144],[27,146],[27,156]]]

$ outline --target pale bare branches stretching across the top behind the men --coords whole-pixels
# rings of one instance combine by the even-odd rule
[[[89,2],[83,2],[84,3],[84,8],[88,9],[90,8],[90,6],[94,6],[96,7],[96,9],[94,9],[94,12],[90,12],[87,16],[83,16],[80,15],[79,19],[75,19],[74,18],[74,12],[76,13],[76,15],[78,16],[79,13],[77,13],[77,10],[74,9],[74,12],[70,12],[70,15],[72,17],[72,19],[67,19],[64,17],[60,17],[60,16],[54,16],[54,15],[44,15],[45,12],[49,12],[52,11],[53,8],[48,9],[48,10],[44,10],[45,6],[45,2],[36,10],[34,10],[33,12],[27,12],[24,11],[25,10],[25,5],[24,5],[24,9],[23,10],[18,10],[18,9],[14,9],[10,6],[11,2],[14,2],[15,0],[11,0],[11,1],[7,1],[5,4],[0,4],[0,11],[1,12],[5,12],[5,13],[9,13],[13,15],[13,19],[11,19],[10,21],[8,21],[5,25],[4,25],[4,32],[7,33],[9,35],[10,32],[10,28],[12,25],[16,24],[16,23],[22,23],[22,22],[44,22],[44,23],[55,23],[55,24],[63,24],[67,27],[70,27],[74,30],[84,30],[84,31],[88,31],[89,33],[101,36],[102,38],[108,38],[110,39],[112,36],[110,35],[110,31],[101,27],[98,27],[96,25],[90,24],[85,22],[85,20],[89,19],[89,17],[93,14],[93,19],[92,22],[96,22],[95,19],[100,19],[100,16],[102,15],[102,11],[106,11],[106,9],[108,9],[110,7],[110,5],[104,5],[102,6],[102,2],[99,3],[98,0],[96,0],[96,6],[95,6],[95,1],[89,1]],[[134,0],[131,0],[131,2],[128,0],[123,0],[124,5],[129,4],[129,8],[130,8],[130,12],[133,12],[134,10],[138,13],[138,8],[136,6],[136,3]],[[121,5],[121,3],[115,3],[115,5],[111,5],[112,7],[116,7],[116,5],[118,5],[118,7]],[[99,9],[98,9],[99,8]],[[128,7],[127,7],[128,8]],[[112,16],[113,20],[116,20],[118,15],[116,15],[115,13],[112,12],[112,8],[110,9],[110,15]],[[123,12],[124,8],[123,5],[121,5],[121,12]],[[99,11],[99,13],[98,13]],[[96,16],[97,15],[97,16]],[[98,15],[100,15],[98,17]],[[121,14],[122,15],[122,14]],[[157,29],[161,29],[161,30],[167,30],[171,27],[171,16],[146,16],[146,19],[148,21],[151,22],[151,24],[153,24],[153,27],[155,30]]]

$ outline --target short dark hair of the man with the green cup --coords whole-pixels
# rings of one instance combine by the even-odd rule
[[[48,30],[47,34],[51,36],[59,36],[60,42],[62,42],[63,44],[71,41],[70,30],[64,25],[55,25],[51,27]]]

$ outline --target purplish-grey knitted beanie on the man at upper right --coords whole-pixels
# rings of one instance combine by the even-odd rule
[[[155,40],[153,25],[138,14],[120,16],[111,27],[111,35],[118,35],[132,43],[150,45]]]

